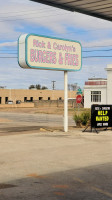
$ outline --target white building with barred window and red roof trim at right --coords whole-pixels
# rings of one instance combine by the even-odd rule
[[[92,104],[112,104],[112,65],[106,68],[107,79],[91,78],[84,86],[84,108]]]

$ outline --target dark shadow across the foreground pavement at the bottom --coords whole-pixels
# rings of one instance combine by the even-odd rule
[[[111,200],[112,163],[46,175],[31,172],[0,184],[0,200],[23,199]]]

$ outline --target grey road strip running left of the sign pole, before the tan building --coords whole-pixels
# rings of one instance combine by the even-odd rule
[[[72,116],[69,116],[69,126],[75,126]],[[40,128],[63,128],[63,116],[54,114],[29,114],[0,112],[0,132],[28,131]]]

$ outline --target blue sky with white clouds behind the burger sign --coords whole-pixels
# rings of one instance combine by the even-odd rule
[[[112,64],[112,23],[84,14],[61,10],[29,0],[0,0],[0,86],[28,89],[41,84],[64,88],[64,72],[23,69],[18,65],[18,38],[39,34],[79,41],[82,69],[68,72],[68,83],[82,89],[88,78],[106,78],[105,68]],[[103,56],[103,57],[97,57]]]

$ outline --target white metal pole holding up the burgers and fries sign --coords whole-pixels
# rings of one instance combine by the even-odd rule
[[[68,74],[64,71],[64,131],[68,131]]]

